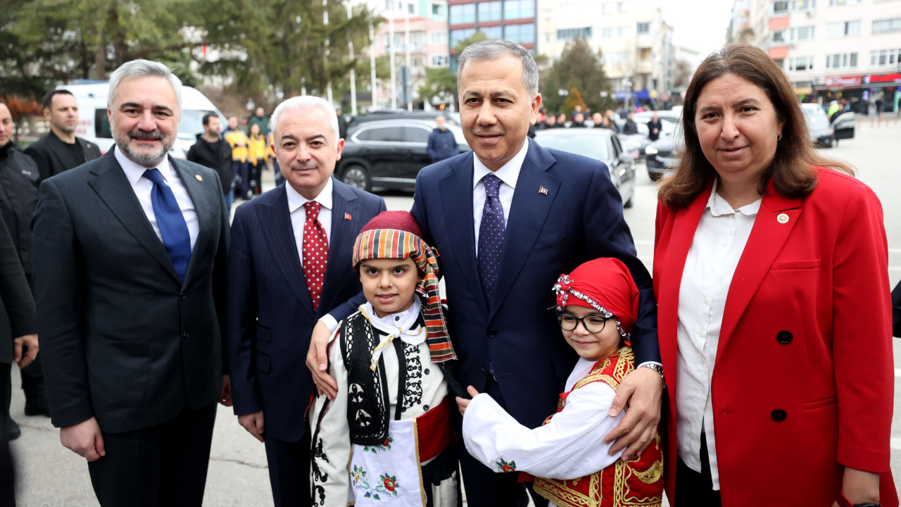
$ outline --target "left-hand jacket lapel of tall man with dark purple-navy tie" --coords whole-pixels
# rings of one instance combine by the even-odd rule
[[[482,292],[482,282],[478,279],[476,264],[476,226],[472,215],[472,175],[473,152],[451,162],[453,174],[438,182],[441,193],[441,209],[444,211],[444,226],[448,232],[448,242],[453,248],[453,257],[463,273],[469,291],[486,309],[487,301]],[[442,253],[439,251],[439,253]],[[447,255],[447,252],[443,252]]]

